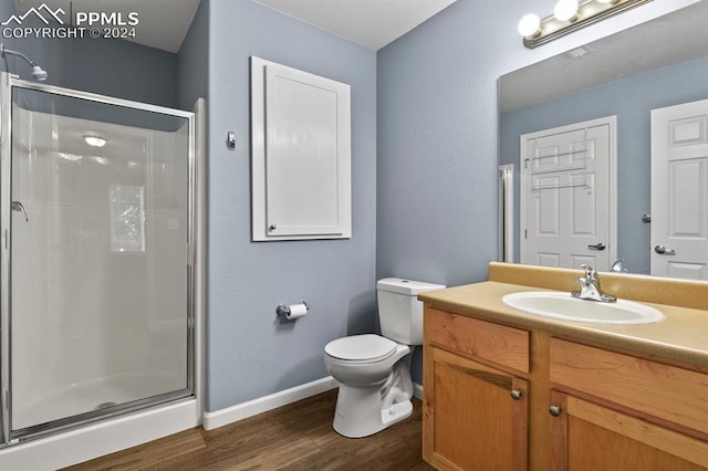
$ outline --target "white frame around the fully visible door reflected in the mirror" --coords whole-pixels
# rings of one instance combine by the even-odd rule
[[[528,178],[525,174],[524,163],[530,156],[527,156],[527,144],[530,140],[538,139],[539,137],[546,136],[551,133],[569,133],[572,130],[579,130],[589,127],[596,127],[601,125],[607,125],[610,127],[610,148],[608,155],[608,188],[610,188],[610,208],[607,210],[610,214],[608,229],[608,243],[607,254],[610,257],[610,263],[617,259],[617,116],[604,116],[601,118],[583,121],[579,123],[572,123],[563,126],[552,127],[548,129],[541,129],[533,133],[522,134],[519,137],[519,260],[522,260],[527,252],[527,239],[523,231],[527,228],[527,193],[528,193]]]

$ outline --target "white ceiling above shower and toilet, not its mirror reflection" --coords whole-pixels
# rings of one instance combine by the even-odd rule
[[[177,53],[200,0],[14,0],[18,12],[42,3],[53,11],[138,12],[137,36],[128,39]],[[243,0],[238,0],[243,1]],[[253,0],[373,51],[378,51],[456,0]]]

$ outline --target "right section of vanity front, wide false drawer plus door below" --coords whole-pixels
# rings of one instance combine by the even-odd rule
[[[708,375],[552,338],[550,376],[552,470],[708,469]]]

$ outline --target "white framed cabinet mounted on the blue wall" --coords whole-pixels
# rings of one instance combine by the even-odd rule
[[[252,238],[352,237],[347,84],[251,57]]]

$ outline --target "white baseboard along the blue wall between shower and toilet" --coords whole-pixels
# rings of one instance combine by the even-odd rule
[[[201,426],[206,430],[212,430],[335,389],[339,386],[340,384],[332,376],[327,376],[294,388],[237,404],[226,409],[204,412]]]

